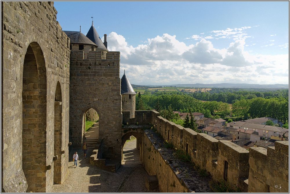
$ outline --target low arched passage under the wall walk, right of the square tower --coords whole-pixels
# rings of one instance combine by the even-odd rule
[[[142,154],[140,147],[142,144],[142,134],[129,132],[122,137],[122,165],[140,165],[142,164]]]

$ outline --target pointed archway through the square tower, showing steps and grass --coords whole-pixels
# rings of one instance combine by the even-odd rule
[[[82,134],[83,141],[88,148],[93,148],[99,140],[100,117],[95,108],[88,108],[83,115]]]

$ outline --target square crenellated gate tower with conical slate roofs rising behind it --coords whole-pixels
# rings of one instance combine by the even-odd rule
[[[87,36],[64,32],[71,48],[70,141],[73,146],[84,142],[85,115],[93,108],[99,115],[98,138],[103,139],[104,157],[121,160],[120,52],[108,51],[93,23]]]

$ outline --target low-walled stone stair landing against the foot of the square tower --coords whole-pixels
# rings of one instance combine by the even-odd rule
[[[97,142],[93,154],[90,156],[90,164],[97,166],[106,171],[116,172],[119,168],[120,163],[115,161],[110,161],[108,159],[102,158],[102,140]]]

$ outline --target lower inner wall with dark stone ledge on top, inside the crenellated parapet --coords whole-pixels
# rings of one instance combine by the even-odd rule
[[[160,192],[212,192],[210,177],[202,177],[189,162],[182,162],[154,130],[144,130],[142,163],[149,176],[156,175]]]

